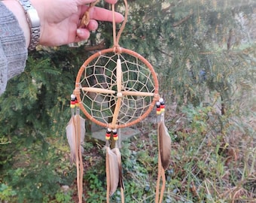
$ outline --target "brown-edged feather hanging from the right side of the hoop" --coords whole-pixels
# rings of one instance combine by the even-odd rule
[[[160,144],[160,157],[163,169],[166,170],[171,162],[171,144],[172,140],[169,136],[168,129],[166,128],[164,121],[160,121],[158,124],[159,144]]]

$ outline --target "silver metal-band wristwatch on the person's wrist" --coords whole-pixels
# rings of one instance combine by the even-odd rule
[[[26,20],[29,23],[30,29],[30,42],[29,50],[35,50],[36,45],[39,43],[40,38],[40,19],[38,17],[38,12],[31,5],[29,0],[19,0],[20,5],[23,6],[24,12],[26,14]]]

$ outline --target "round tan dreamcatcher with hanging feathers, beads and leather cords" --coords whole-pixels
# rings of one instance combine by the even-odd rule
[[[121,199],[124,202],[121,154],[117,142],[120,129],[141,122],[157,106],[159,164],[155,202],[161,202],[166,181],[165,170],[170,163],[171,139],[164,124],[164,102],[158,93],[158,80],[154,68],[139,53],[120,47],[118,44],[127,20],[126,0],[124,4],[125,20],[117,35],[114,5],[111,5],[114,46],[93,54],[81,66],[75,82],[72,107],[80,108],[89,120],[106,129],[106,198],[109,202],[110,196],[119,186]],[[75,141],[70,141],[69,144],[75,143],[75,147],[71,149],[74,149],[72,157],[75,157],[73,160],[75,159],[77,164],[78,196],[81,202],[83,177],[81,132],[84,130],[76,128],[80,128],[84,120],[79,116],[79,111],[76,114],[72,113],[71,120],[75,123],[74,130],[71,128],[75,132],[75,138],[72,138]],[[72,137],[68,134],[67,136]],[[109,144],[111,136],[115,141],[113,149]],[[161,178],[162,188],[160,189]]]

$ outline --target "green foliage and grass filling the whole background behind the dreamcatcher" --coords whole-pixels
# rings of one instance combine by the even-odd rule
[[[123,11],[123,3],[117,4]],[[166,113],[173,146],[164,202],[254,201],[256,49],[247,26],[254,23],[255,2],[129,5],[120,46],[148,59],[166,103],[178,103],[177,111]],[[113,45],[110,25],[100,23],[76,49],[38,47],[25,71],[9,81],[0,97],[1,201],[72,202],[75,167],[69,166],[65,138],[69,95],[91,54],[87,47],[103,40],[105,47]],[[126,202],[154,202],[157,133],[147,128],[148,135],[121,149]],[[94,147],[85,144],[84,162],[92,162],[89,151],[99,150]],[[105,157],[98,156],[85,170],[86,202],[105,201]],[[62,185],[72,189],[62,192]],[[120,193],[111,201],[119,202]]]

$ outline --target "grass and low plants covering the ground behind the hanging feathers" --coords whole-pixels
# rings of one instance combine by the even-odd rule
[[[255,95],[254,92],[251,95]],[[246,102],[241,102],[224,115],[217,114],[215,107],[210,105],[196,108],[183,106],[177,112],[175,105],[168,108],[169,102],[166,102],[166,126],[172,138],[172,162],[166,170],[164,202],[256,201],[256,99],[253,96],[245,97]],[[154,119],[149,117],[136,126],[141,135],[123,141],[120,149],[126,202],[154,202],[157,125],[149,120]],[[43,202],[78,202],[75,165],[69,166],[66,139],[57,141],[49,138],[49,142],[51,150],[48,158],[44,156],[40,160],[33,147],[15,157],[16,168],[11,169],[14,173],[9,183],[26,183],[28,185],[24,188],[32,189],[33,184],[38,186],[38,183],[30,181],[38,178],[41,188],[44,186],[44,192],[41,190],[40,193]],[[103,146],[87,142],[84,147],[84,201],[105,202]],[[38,149],[38,146],[35,148]],[[34,162],[34,158],[37,162]],[[45,170],[38,169],[41,167]],[[36,174],[38,170],[44,172],[44,177],[39,178],[40,175]],[[35,176],[32,176],[32,172]],[[53,183],[53,179],[56,183]],[[59,184],[55,195],[49,195],[53,191],[47,192],[47,182],[55,184],[56,189]],[[62,185],[69,186],[68,192],[62,192]],[[0,199],[17,202],[15,196],[19,194],[18,188],[9,186],[5,181],[0,189]],[[36,189],[32,191],[37,194]],[[35,196],[33,198],[36,199]],[[111,197],[111,202],[120,202],[118,190]]]

